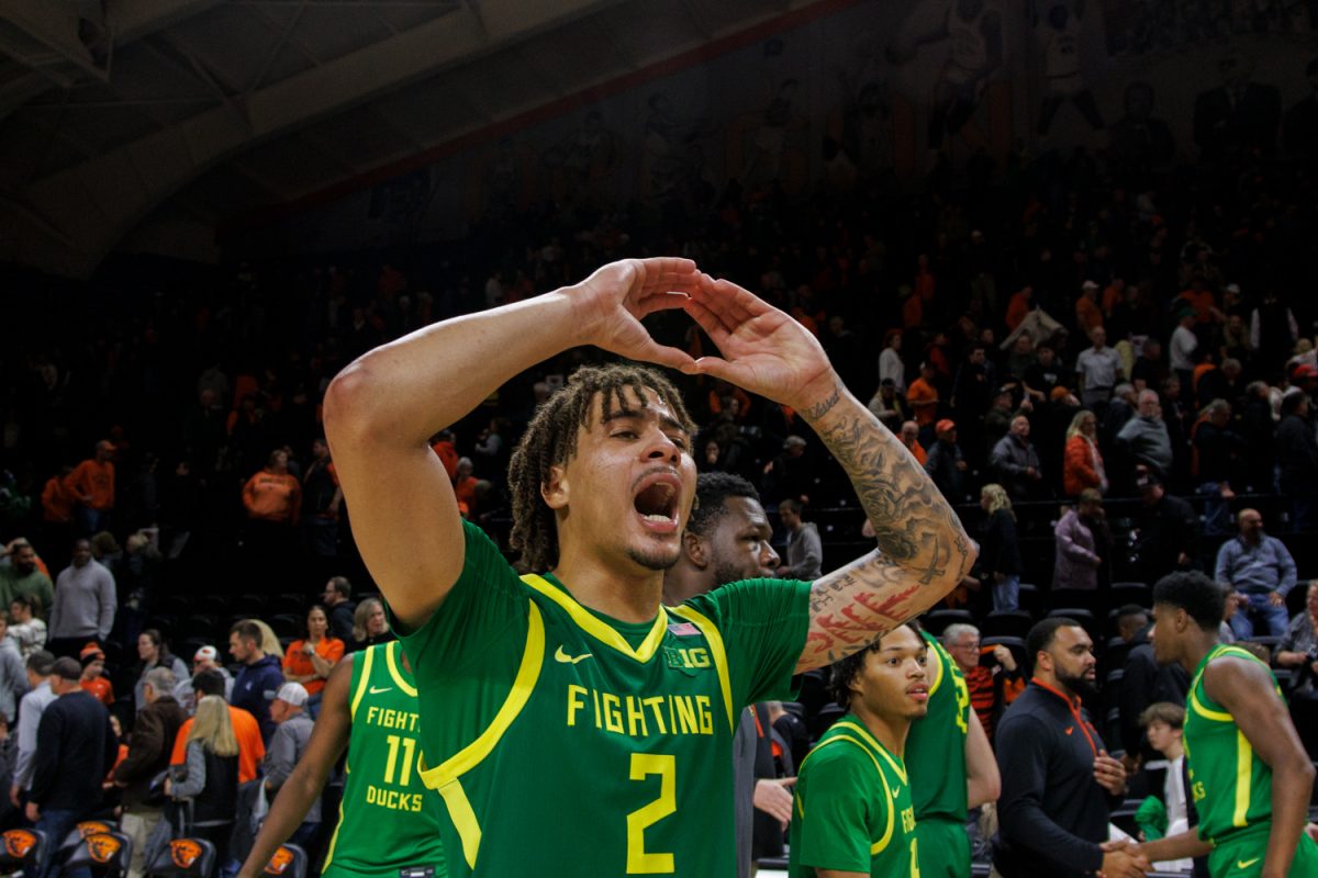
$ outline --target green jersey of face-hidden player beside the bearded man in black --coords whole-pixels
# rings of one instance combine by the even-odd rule
[[[911,774],[911,802],[917,820],[941,817],[965,823],[970,688],[938,638],[928,632],[923,636],[929,645],[925,667],[929,712],[911,724],[903,754]]]

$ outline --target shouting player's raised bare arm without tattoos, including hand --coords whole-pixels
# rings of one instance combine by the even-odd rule
[[[463,569],[453,488],[428,440],[517,373],[577,345],[691,369],[641,319],[681,307],[699,275],[689,259],[625,259],[527,301],[427,326],[353,361],[330,384],[326,437],[352,530],[405,625],[423,623]]]

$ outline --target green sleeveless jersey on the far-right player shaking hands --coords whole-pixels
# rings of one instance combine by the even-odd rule
[[[1194,670],[1182,732],[1199,837],[1214,842],[1272,819],[1272,769],[1253,752],[1235,719],[1203,688],[1209,662],[1223,656],[1259,662],[1239,646],[1214,646]],[[1277,686],[1276,678],[1272,684]]]

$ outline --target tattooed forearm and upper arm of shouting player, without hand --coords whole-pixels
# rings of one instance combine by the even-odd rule
[[[828,665],[932,606],[965,578],[975,549],[952,507],[911,454],[859,403],[841,394],[805,417],[874,527],[878,552],[826,574],[811,590],[811,629],[797,670]]]

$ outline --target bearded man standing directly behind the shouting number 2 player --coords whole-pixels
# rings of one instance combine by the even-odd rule
[[[702,473],[696,480],[691,521],[681,534],[681,555],[664,571],[664,606],[677,607],[730,582],[772,578],[778,566],[772,537],[774,528],[750,482],[728,473]],[[762,704],[746,708],[733,738],[739,878],[751,874],[751,864],[759,857],[782,854],[783,825],[792,819],[792,794],[786,788],[792,781],[772,779],[774,750],[770,738],[759,732],[767,731],[766,720]],[[763,828],[755,833],[755,827]],[[764,845],[766,837],[776,837],[778,845]]]

